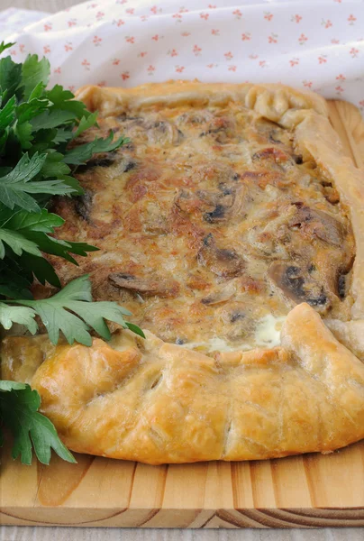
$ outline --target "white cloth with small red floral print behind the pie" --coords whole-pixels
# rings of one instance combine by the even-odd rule
[[[170,78],[281,82],[364,113],[362,0],[92,0],[14,39],[14,58],[46,55],[51,83],[71,89]]]

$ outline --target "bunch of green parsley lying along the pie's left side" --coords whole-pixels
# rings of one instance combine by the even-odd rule
[[[0,54],[14,43],[0,43]],[[131,314],[115,302],[92,302],[87,276],[68,283],[50,298],[32,298],[32,282],[60,288],[45,255],[77,264],[75,255],[97,250],[87,243],[55,238],[63,218],[49,211],[53,196],[83,193],[73,172],[97,152],[116,151],[130,140],[114,134],[80,143],[76,139],[97,126],[97,113],[60,85],[47,88],[50,63],[29,55],[23,63],[0,60],[0,330],[14,324],[34,335],[41,321],[53,344],[62,333],[69,344],[91,345],[91,331],[110,339],[106,321],[143,336],[124,320]],[[77,384],[77,382],[75,382]],[[75,462],[55,427],[39,413],[41,397],[25,383],[0,380],[0,428],[14,436],[12,455],[32,463],[32,448],[42,463],[51,449]],[[0,445],[3,436],[0,431]]]

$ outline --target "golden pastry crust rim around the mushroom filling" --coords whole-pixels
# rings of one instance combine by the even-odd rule
[[[51,351],[42,346],[45,361],[39,365],[36,355],[32,366],[24,362],[23,373],[41,393],[42,411],[66,445],[81,453],[145,463],[187,463],[327,453],[364,437],[364,366],[359,360],[364,352],[363,173],[344,156],[323,98],[279,85],[182,81],[132,89],[84,87],[77,97],[106,120],[138,110],[241,104],[254,118],[278,124],[292,134],[304,162],[312,162],[329,189],[339,192],[347,234],[338,234],[341,244],[332,237],[324,241],[336,246],[330,248],[332,269],[336,270],[339,244],[341,252],[345,245],[350,254],[350,225],[356,253],[342,307],[334,299],[333,319],[325,326],[313,307],[299,304],[289,311],[275,348],[220,352],[212,358],[166,344],[149,332],[142,340],[119,331],[110,344],[95,339],[91,348],[63,344]],[[308,221],[312,220],[311,216]],[[100,238],[106,233],[101,231]],[[309,229],[308,234],[314,238],[318,233]],[[203,252],[199,257],[205,262],[207,256]],[[238,265],[235,256],[229,257]],[[223,272],[230,279],[235,267],[223,269],[221,276]],[[68,271],[62,277],[69,280]],[[294,273],[291,279],[296,278]],[[117,280],[123,288],[131,279],[114,277]],[[203,286],[195,282],[194,287]],[[148,288],[149,294],[158,292],[164,299],[177,291],[171,282],[161,289],[158,280]],[[295,304],[287,300],[287,307]],[[320,296],[312,302],[317,309],[321,304]],[[24,339],[9,337],[3,344],[3,373],[9,379],[20,377],[19,368],[14,369],[19,365],[16,352],[26,347],[17,343],[20,340]],[[25,340],[31,347],[33,339]]]

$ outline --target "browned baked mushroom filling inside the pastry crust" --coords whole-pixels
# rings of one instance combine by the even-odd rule
[[[129,108],[99,126],[132,142],[79,167],[85,195],[55,203],[59,235],[100,248],[78,269],[53,261],[64,282],[90,273],[96,299],[203,353],[278,345],[301,302],[350,318],[348,211],[293,132],[236,102]]]

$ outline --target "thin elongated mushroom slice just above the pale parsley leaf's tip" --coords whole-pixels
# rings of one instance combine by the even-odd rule
[[[144,296],[177,297],[179,285],[175,280],[163,278],[141,278],[125,272],[113,272],[108,280],[116,288],[130,289]]]

